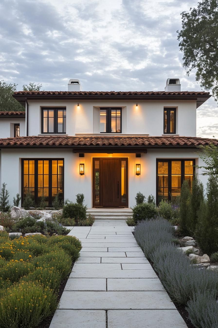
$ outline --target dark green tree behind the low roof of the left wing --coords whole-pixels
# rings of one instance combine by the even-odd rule
[[[12,94],[16,91],[17,84],[6,83],[4,80],[0,81],[0,110],[2,112],[19,112],[25,111],[16,99],[12,97]]]

